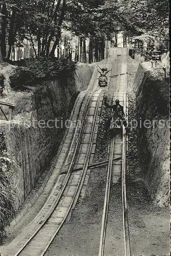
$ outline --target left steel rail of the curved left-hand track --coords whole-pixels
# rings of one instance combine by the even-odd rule
[[[83,118],[83,123],[85,122],[85,120],[86,120],[86,116],[87,116],[87,113],[88,113],[88,106],[89,106],[89,104],[90,104],[90,101],[91,101],[91,93],[89,93],[89,99],[88,99],[88,101],[86,102],[86,106],[87,106],[87,108],[82,104],[82,106],[81,106],[81,110],[83,110],[84,108],[86,108],[86,112],[84,112],[84,118]],[[81,111],[80,111],[80,115],[81,115]],[[77,123],[77,126],[76,126],[76,130],[75,130],[75,134],[76,134],[76,132],[77,132],[77,130],[78,130],[78,123]],[[65,188],[66,188],[66,186],[67,186],[67,184],[68,184],[68,181],[69,181],[69,178],[70,178],[70,176],[71,176],[71,170],[72,170],[72,168],[73,168],[73,166],[74,166],[74,163],[75,163],[75,158],[76,158],[76,155],[77,155],[77,151],[78,151],[78,148],[79,148],[79,144],[80,144],[80,137],[81,137],[81,134],[82,134],[82,131],[83,131],[83,126],[84,125],[82,125],[81,126],[81,129],[80,129],[80,133],[79,133],[79,136],[78,136],[78,140],[77,140],[77,144],[76,144],[76,149],[75,149],[75,151],[74,151],[74,155],[73,155],[73,158],[72,158],[72,161],[71,161],[71,164],[70,164],[70,167],[69,167],[69,170],[68,170],[68,173],[67,173],[67,175],[66,175],[66,179],[65,179],[65,184],[63,185],[63,187],[62,187],[62,189],[60,190],[60,193],[59,193],[59,195],[57,196],[57,199],[56,199],[56,202],[55,202],[55,205],[52,205],[52,209],[50,210],[50,212],[49,212],[49,214],[48,214],[48,216],[45,218],[45,220],[44,221],[42,221],[42,223],[40,224],[40,226],[37,228],[37,230],[34,232],[34,234],[27,240],[27,242],[24,244],[24,246],[22,246],[22,248],[20,248],[19,250],[18,250],[18,252],[14,255],[14,256],[18,256],[25,248],[26,248],[26,246],[30,243],[30,241],[36,236],[36,234],[39,232],[39,230],[46,224],[46,222],[49,220],[49,218],[51,217],[51,215],[52,215],[52,213],[53,213],[53,211],[54,211],[54,209],[56,208],[56,206],[58,205],[58,203],[59,203],[59,201],[60,201],[60,198],[61,198],[61,196],[63,195],[63,192],[64,192],[64,190],[65,190]],[[53,189],[54,190],[54,189]],[[52,193],[53,193],[53,191],[52,191]],[[48,197],[48,199],[51,197],[51,195]],[[47,202],[48,202],[48,199],[47,199]],[[42,207],[42,209],[43,209],[44,207]],[[40,210],[40,212],[42,211],[42,209]],[[39,212],[39,214],[40,214],[40,212]],[[37,216],[36,216],[37,217]],[[34,220],[36,219],[36,217],[34,218]],[[34,220],[31,222],[31,223],[33,223],[34,222]],[[29,223],[29,225],[31,224],[31,223]],[[28,225],[28,226],[29,226]],[[28,227],[27,226],[27,227]],[[25,228],[25,229],[27,229],[27,227]]]

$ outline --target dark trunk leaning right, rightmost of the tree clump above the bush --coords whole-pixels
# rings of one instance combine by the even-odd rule
[[[66,8],[67,8],[66,0],[63,0],[63,4],[62,4],[62,8],[61,8],[61,14],[60,14],[58,28],[57,28],[57,36],[56,36],[54,45],[52,47],[52,50],[50,52],[51,56],[55,55],[55,49],[56,49],[57,45],[59,45],[59,40],[60,40],[60,36],[61,36],[61,25],[63,23],[63,19],[64,19],[65,14],[66,14]]]

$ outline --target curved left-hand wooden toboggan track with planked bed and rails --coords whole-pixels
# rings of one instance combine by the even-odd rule
[[[98,117],[103,95],[104,90],[99,89],[87,92],[84,96],[82,105],[80,105],[79,121],[75,133],[74,135],[70,134],[72,136],[70,150],[66,154],[65,161],[62,159],[59,162],[61,166],[66,162],[64,167],[60,168],[61,172],[67,169],[67,174],[63,175],[62,187],[59,190],[56,183],[44,207],[7,246],[5,254],[3,253],[4,256],[44,255],[60,227],[71,214],[86,177],[89,162],[94,156],[94,138],[97,136]],[[68,140],[71,139],[70,136]],[[82,167],[82,170],[72,173],[72,169],[78,167]]]

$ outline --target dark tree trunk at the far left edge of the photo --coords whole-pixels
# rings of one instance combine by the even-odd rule
[[[3,4],[2,8],[2,33],[1,33],[1,52],[2,56],[6,58],[6,27],[7,27],[7,7]]]

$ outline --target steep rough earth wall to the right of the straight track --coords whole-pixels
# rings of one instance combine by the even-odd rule
[[[152,199],[169,204],[169,78],[161,68],[142,63],[134,80],[139,125],[139,158],[142,175]],[[146,120],[146,121],[145,121]],[[145,125],[144,125],[145,121]]]

